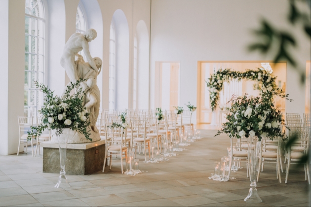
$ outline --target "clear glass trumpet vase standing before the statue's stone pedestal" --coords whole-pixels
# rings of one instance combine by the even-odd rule
[[[68,181],[67,181],[67,177],[66,177],[66,172],[65,172],[65,165],[66,165],[66,151],[67,151],[67,143],[68,143],[68,139],[70,137],[72,137],[74,134],[74,132],[69,129],[69,128],[65,128],[63,129],[63,133],[59,136],[57,136],[58,138],[58,145],[59,145],[59,156],[60,156],[60,167],[61,167],[61,171],[60,171],[60,175],[58,178],[58,182],[56,183],[56,185],[54,186],[55,188],[59,188],[61,187],[70,187]]]

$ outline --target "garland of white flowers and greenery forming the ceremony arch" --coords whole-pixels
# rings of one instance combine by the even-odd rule
[[[218,105],[219,92],[223,89],[224,82],[230,81],[231,79],[237,79],[240,81],[245,78],[256,81],[256,85],[258,85],[257,88],[260,90],[260,95],[263,100],[266,100],[271,104],[273,102],[273,95],[280,96],[282,98],[288,96],[285,95],[284,91],[276,86],[276,77],[267,70],[247,69],[245,72],[239,72],[232,71],[231,69],[219,69],[206,81],[207,87],[210,91],[209,99],[212,111],[214,111]]]

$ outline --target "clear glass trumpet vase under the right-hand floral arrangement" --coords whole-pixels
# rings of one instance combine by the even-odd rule
[[[248,165],[249,165],[249,173],[251,179],[251,188],[249,189],[247,197],[244,199],[245,202],[248,203],[261,203],[263,202],[257,192],[256,189],[256,175],[258,171],[258,163],[259,163],[259,151],[261,147],[261,141],[258,140],[257,137],[249,137],[247,138],[247,154],[248,154]]]

